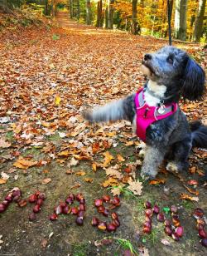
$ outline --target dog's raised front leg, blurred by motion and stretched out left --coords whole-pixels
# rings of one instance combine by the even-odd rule
[[[85,111],[83,116],[89,122],[107,122],[118,120],[130,120],[134,105],[134,96],[128,96],[118,101],[112,101],[92,111]]]

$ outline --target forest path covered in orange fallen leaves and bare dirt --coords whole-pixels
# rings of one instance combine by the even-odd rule
[[[128,123],[89,126],[79,111],[137,91],[144,83],[137,68],[143,53],[166,42],[82,25],[68,19],[67,12],[59,12],[56,19],[60,27],[22,32],[5,38],[0,47],[0,117],[6,116],[8,120],[2,122],[0,131],[11,144],[0,148],[0,172],[9,175],[7,183],[0,185],[0,199],[13,187],[21,188],[24,198],[36,190],[46,193],[46,201],[34,222],[28,220],[31,204],[22,208],[11,204],[0,214],[0,255],[123,255],[129,243],[140,255],[142,250],[144,255],[148,250],[154,256],[206,255],[192,218],[196,207],[207,209],[203,177],[196,172],[184,173],[182,178],[199,180],[195,188],[200,192],[199,202],[181,200],[181,193],[188,193],[181,177],[162,170],[158,178],[165,179],[165,184],[143,183],[139,197],[123,191],[117,210],[121,225],[114,234],[91,226],[93,215],[102,218],[94,209],[94,199],[103,194],[112,196],[110,189],[102,185],[107,180],[105,170],[98,168],[95,172],[93,162],[102,163],[103,153],[108,150],[113,155],[112,165],[120,165],[122,175],[128,179],[123,171],[126,165],[136,160],[142,163],[142,159],[135,153],[137,139]],[[191,54],[197,51],[188,50]],[[204,102],[196,102],[182,107],[190,118],[195,118],[203,115],[203,105]],[[78,165],[70,165],[71,152],[79,160]],[[190,164],[202,174],[205,162],[201,154],[192,154]],[[38,165],[25,170],[15,168],[13,164],[19,155],[37,160]],[[123,155],[123,163],[118,162],[118,155]],[[75,175],[78,172],[84,175]],[[51,180],[44,184],[45,179]],[[74,188],[77,184],[80,186]],[[85,196],[83,227],[77,226],[70,214],[61,215],[55,222],[48,219],[54,206],[70,192]],[[171,204],[179,207],[185,229],[180,242],[166,237],[163,224],[155,217],[152,234],[142,235],[146,200],[156,202],[161,209]],[[107,240],[101,243],[104,238]],[[161,244],[161,239],[167,239],[171,246]]]

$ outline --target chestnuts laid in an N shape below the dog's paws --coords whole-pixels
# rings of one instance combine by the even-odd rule
[[[145,203],[145,223],[143,226],[144,234],[151,234],[152,232],[152,215],[156,214],[156,219],[159,222],[164,223],[165,228],[164,231],[167,235],[171,236],[172,239],[179,241],[183,235],[183,227],[181,226],[181,222],[179,220],[179,216],[177,215],[177,207],[175,205],[171,206],[171,220],[166,219],[165,215],[160,212],[160,208],[157,204],[152,207],[150,202]]]

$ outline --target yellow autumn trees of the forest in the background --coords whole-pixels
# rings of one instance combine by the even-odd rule
[[[172,37],[207,42],[206,0],[169,0],[169,5]],[[70,18],[81,23],[168,37],[167,0],[0,0],[0,7],[3,12],[26,9],[46,17],[55,17],[60,9],[69,10]]]

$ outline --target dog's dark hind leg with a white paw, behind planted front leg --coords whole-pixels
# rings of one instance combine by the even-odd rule
[[[180,172],[181,170],[188,170],[188,156],[192,147],[191,139],[185,138],[172,145],[172,160],[166,165],[166,170],[171,172]]]

